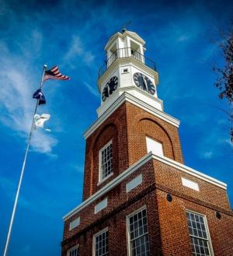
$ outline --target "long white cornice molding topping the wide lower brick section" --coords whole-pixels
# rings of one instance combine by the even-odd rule
[[[165,156],[155,156],[151,152],[147,155],[143,156],[141,160],[138,160],[136,163],[131,165],[127,170],[125,170],[123,173],[115,177],[110,183],[106,184],[103,188],[100,188],[99,191],[96,191],[95,194],[91,195],[89,198],[87,198],[84,202],[82,202],[80,205],[75,207],[75,209],[72,209],[71,212],[68,212],[62,219],[63,221],[66,221],[71,216],[75,215],[76,213],[80,212],[82,209],[90,205],[92,202],[95,202],[96,199],[102,197],[105,195],[108,191],[115,188],[118,184],[120,184],[124,179],[129,177],[131,174],[134,173],[137,169],[142,167],[145,163],[148,163],[149,160],[155,159],[159,162],[165,163],[169,165],[170,167],[174,167],[178,170],[183,171],[186,174],[190,174],[193,177],[198,177],[200,180],[207,181],[210,184],[214,184],[215,186],[223,189],[227,189],[227,184],[221,181],[217,181],[213,177],[210,177],[206,174],[202,174],[197,170],[194,170],[190,167],[186,167],[182,163],[178,163],[174,160],[170,160],[168,157]]]

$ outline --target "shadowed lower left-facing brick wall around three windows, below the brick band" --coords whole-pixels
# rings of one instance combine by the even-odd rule
[[[158,226],[158,213],[156,207],[155,191],[151,191],[143,199],[138,200],[126,209],[123,209],[117,215],[105,220],[103,223],[93,227],[87,233],[82,234],[75,240],[71,240],[63,247],[63,256],[66,256],[68,248],[80,244],[80,254],[82,256],[92,255],[92,241],[95,233],[108,227],[109,230],[109,252],[113,256],[127,255],[127,216],[131,212],[135,212],[142,206],[147,207],[148,216],[148,231],[151,255],[160,255],[161,253],[161,238]]]

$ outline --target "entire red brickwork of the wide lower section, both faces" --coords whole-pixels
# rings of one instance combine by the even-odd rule
[[[143,183],[126,193],[127,182],[138,174],[143,175]],[[198,182],[200,192],[183,187],[180,181],[183,175]],[[172,202],[166,200],[167,193],[172,195]],[[106,197],[106,209],[94,214],[95,205]],[[117,187],[64,223],[63,255],[75,244],[80,244],[82,255],[92,255],[92,237],[106,226],[109,227],[110,255],[127,255],[126,216],[146,205],[151,255],[192,255],[186,223],[186,209],[189,209],[207,216],[214,255],[231,256],[233,214],[226,198],[226,191],[207,181],[183,174],[158,160],[149,160]],[[114,212],[116,209],[118,212]],[[221,219],[215,216],[216,211],[221,212]],[[68,230],[70,221],[78,216],[81,217],[80,225]]]

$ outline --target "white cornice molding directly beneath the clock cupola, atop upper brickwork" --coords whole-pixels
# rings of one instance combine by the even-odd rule
[[[110,117],[110,115],[113,114],[113,112],[117,110],[117,108],[120,107],[125,101],[130,102],[137,107],[141,107],[141,109],[155,115],[155,117],[158,117],[169,124],[179,127],[178,119],[156,109],[155,107],[151,107],[148,103],[145,103],[137,99],[135,96],[130,95],[130,93],[125,92],[119,98],[117,98],[117,100],[114,101],[112,105],[110,105],[110,107],[90,126],[90,128],[84,133],[84,138],[89,138],[89,136],[92,135],[92,132],[94,132],[100,124],[103,124],[103,122],[106,121],[106,119]]]

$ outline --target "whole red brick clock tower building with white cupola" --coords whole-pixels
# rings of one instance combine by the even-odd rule
[[[107,42],[101,105],[85,132],[83,202],[64,216],[62,256],[233,255],[227,185],[186,167],[144,40]]]

